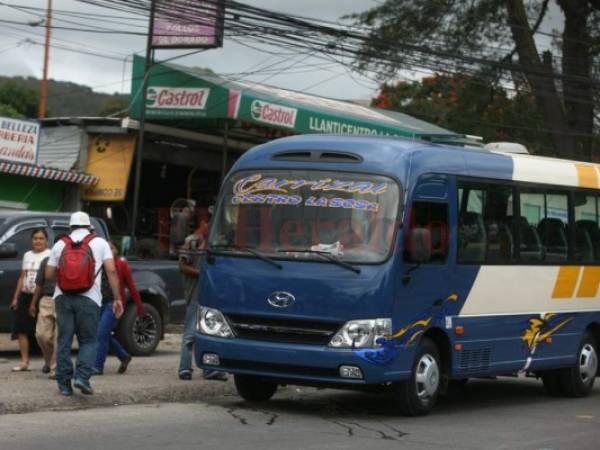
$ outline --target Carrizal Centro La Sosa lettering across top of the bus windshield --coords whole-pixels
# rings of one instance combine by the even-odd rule
[[[231,203],[234,205],[304,205],[321,208],[344,208],[378,211],[379,204],[366,199],[329,198],[309,196],[303,199],[295,194],[301,188],[311,192],[331,192],[360,195],[380,195],[387,191],[387,183],[371,181],[345,181],[324,178],[320,180],[287,179],[252,174],[238,180],[233,186]]]

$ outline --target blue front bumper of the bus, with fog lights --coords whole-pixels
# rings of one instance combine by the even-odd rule
[[[351,349],[315,345],[282,344],[248,339],[224,339],[196,333],[194,354],[202,369],[256,375],[286,380],[293,384],[376,385],[408,379],[409,355],[399,355],[389,366],[365,361]],[[213,364],[203,364],[210,354]],[[218,356],[218,365],[214,362]],[[361,378],[340,374],[342,366],[359,368]],[[351,371],[355,376],[356,370]]]

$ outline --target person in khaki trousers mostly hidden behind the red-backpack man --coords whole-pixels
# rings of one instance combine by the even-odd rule
[[[54,243],[62,239],[64,235],[55,238]],[[54,289],[56,283],[53,280],[46,279],[46,265],[49,256],[40,263],[35,278],[35,291],[29,305],[29,315],[37,317],[35,324],[35,338],[42,350],[44,357],[44,367],[42,372],[50,373],[50,378],[56,378],[56,339],[58,329],[56,325],[56,310],[54,307]]]

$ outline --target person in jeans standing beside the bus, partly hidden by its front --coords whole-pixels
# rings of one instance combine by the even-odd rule
[[[186,301],[183,336],[181,337],[181,356],[179,359],[179,378],[192,379],[192,353],[198,320],[198,286],[202,274],[202,264],[206,253],[208,223],[201,221],[198,228],[185,238],[179,256],[179,271],[183,274],[183,288]],[[223,372],[204,371],[204,378],[227,380]]]

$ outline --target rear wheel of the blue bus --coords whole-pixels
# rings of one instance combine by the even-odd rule
[[[594,337],[585,333],[577,349],[577,361],[560,371],[563,392],[569,397],[586,397],[594,387],[598,371],[598,350]]]

